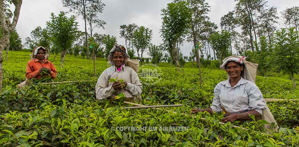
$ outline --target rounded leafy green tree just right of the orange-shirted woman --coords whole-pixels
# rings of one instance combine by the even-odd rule
[[[68,18],[66,13],[60,11],[58,16],[51,13],[50,21],[47,22],[47,30],[50,32],[51,38],[53,38],[53,44],[59,49],[61,68],[63,68],[63,61],[68,49],[72,47],[72,44],[76,40],[78,32],[78,22],[76,17],[71,16]]]

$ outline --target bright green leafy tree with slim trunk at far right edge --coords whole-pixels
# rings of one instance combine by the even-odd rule
[[[291,74],[294,88],[294,74],[299,73],[299,41],[295,28],[277,30],[274,37],[275,52],[273,60],[283,73]]]

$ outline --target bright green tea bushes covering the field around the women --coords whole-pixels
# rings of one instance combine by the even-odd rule
[[[280,126],[279,132],[264,134],[262,122],[219,125],[223,114],[198,113],[190,116],[192,108],[207,108],[213,99],[214,87],[226,80],[223,70],[203,68],[202,87],[197,68],[187,67],[179,73],[175,67],[162,63],[160,67],[147,64],[140,68],[143,84],[143,105],[183,104],[183,107],[156,109],[121,109],[131,105],[95,99],[95,84],[108,65],[104,59],[93,61],[67,55],[60,68],[59,55],[54,60],[58,75],[54,82],[85,81],[63,84],[31,85],[18,89],[25,80],[26,65],[31,52],[13,51],[4,61],[3,91],[0,96],[0,146],[299,146],[299,104],[295,101],[268,103]],[[155,77],[144,76],[148,71]],[[264,98],[297,99],[287,75],[257,76],[256,84]],[[296,75],[296,80],[299,81]],[[299,83],[297,83],[299,84]],[[140,103],[141,104],[141,103]],[[178,113],[168,112],[176,111]],[[184,115],[185,113],[187,115]],[[206,119],[202,121],[200,117]],[[247,128],[247,131],[233,128]],[[126,130],[120,127],[156,127],[157,130]],[[188,129],[167,131],[163,127]]]

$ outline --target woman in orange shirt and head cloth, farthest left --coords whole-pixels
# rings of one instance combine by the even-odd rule
[[[51,77],[55,78],[57,75],[54,64],[47,60],[47,50],[43,46],[38,46],[34,49],[31,55],[31,60],[27,63],[26,78],[40,79],[42,71],[47,72]]]

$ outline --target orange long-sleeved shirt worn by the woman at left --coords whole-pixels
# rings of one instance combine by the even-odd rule
[[[40,68],[41,67],[47,67],[47,68],[51,69],[50,76],[52,76],[53,78],[56,77],[57,71],[56,71],[54,64],[46,59],[44,59],[44,60],[45,60],[44,63],[40,62],[37,58],[34,60],[28,61],[27,68],[26,68],[26,78],[27,79],[32,79],[32,78],[40,79],[41,78],[41,76],[40,76]]]

